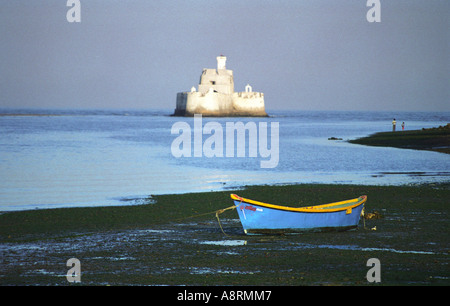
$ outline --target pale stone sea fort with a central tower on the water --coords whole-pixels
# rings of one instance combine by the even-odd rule
[[[264,94],[247,84],[244,92],[234,91],[233,71],[226,68],[227,58],[217,57],[217,69],[203,69],[198,90],[177,93],[174,116],[265,117]]]

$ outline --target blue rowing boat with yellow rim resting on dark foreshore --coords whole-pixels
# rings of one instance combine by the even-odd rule
[[[345,231],[356,228],[367,196],[308,207],[262,203],[231,195],[246,234]]]

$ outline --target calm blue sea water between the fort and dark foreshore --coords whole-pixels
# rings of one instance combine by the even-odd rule
[[[447,154],[353,145],[375,132],[445,125],[450,112],[269,112],[279,123],[279,163],[260,157],[175,158],[171,111],[0,110],[0,211],[141,203],[151,194],[253,184],[417,184],[450,181]],[[29,116],[33,114],[33,116]],[[270,143],[270,129],[269,129]],[[209,135],[203,135],[203,141]],[[225,137],[225,136],[224,136]],[[342,141],[328,140],[343,138]],[[225,143],[225,138],[224,138]],[[248,151],[247,151],[248,152]]]

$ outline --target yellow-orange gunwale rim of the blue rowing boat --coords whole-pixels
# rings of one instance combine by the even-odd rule
[[[284,210],[284,211],[290,211],[290,212],[330,213],[330,212],[339,212],[339,211],[349,211],[355,207],[363,205],[367,200],[367,196],[362,195],[355,199],[333,202],[333,203],[328,203],[328,204],[306,206],[306,207],[289,207],[289,206],[263,203],[263,202],[240,197],[237,194],[231,194],[231,199],[237,200],[240,202],[244,202],[244,203],[248,203],[248,204],[252,204],[252,205],[265,207],[265,208]],[[345,204],[348,204],[348,205],[345,205]],[[345,205],[345,206],[341,206],[341,205]],[[341,206],[341,207],[335,207],[335,206]]]

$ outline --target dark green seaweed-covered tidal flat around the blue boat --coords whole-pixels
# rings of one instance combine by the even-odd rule
[[[68,284],[80,259],[84,285],[367,285],[369,258],[382,284],[449,285],[450,185],[252,186],[233,191],[268,203],[306,206],[368,195],[382,218],[356,231],[246,236],[230,192],[160,195],[153,204],[64,208],[0,215],[1,284]],[[150,201],[149,201],[150,202]]]

